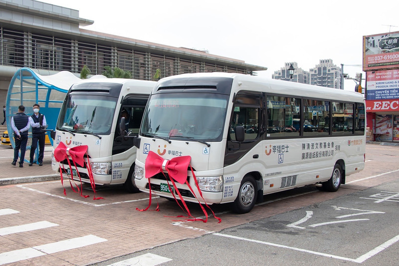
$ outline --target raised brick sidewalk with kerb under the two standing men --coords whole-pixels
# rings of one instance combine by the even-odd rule
[[[19,167],[19,159],[16,166],[11,165],[14,150],[11,146],[0,145],[0,185],[10,185],[18,183],[39,182],[60,179],[60,175],[51,168],[52,146],[44,148],[43,165],[33,164],[29,166],[24,162],[23,167]],[[29,150],[26,151],[25,159],[29,160]]]

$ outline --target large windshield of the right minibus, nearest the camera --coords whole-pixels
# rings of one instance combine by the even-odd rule
[[[145,137],[220,141],[228,95],[160,93],[151,96],[140,133]]]

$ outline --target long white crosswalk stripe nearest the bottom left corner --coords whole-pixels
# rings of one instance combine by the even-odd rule
[[[67,251],[76,248],[81,248],[84,246],[97,244],[104,241],[107,240],[93,235],[88,235],[80,238],[54,242],[51,244],[45,244],[32,248],[4,252],[0,254],[0,265],[19,262],[21,260],[27,260],[60,251]]]

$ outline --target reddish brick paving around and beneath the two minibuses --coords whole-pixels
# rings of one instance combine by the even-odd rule
[[[367,145],[365,170],[348,176],[347,182],[398,170],[398,154],[399,147]],[[24,168],[18,168],[11,166],[12,158],[11,161],[7,159],[7,162],[5,162],[3,156],[2,153],[0,160],[1,178],[3,174],[4,176],[15,177],[43,173],[53,174],[50,167],[51,158],[49,157],[45,156],[46,163],[41,167],[38,165],[28,167],[26,165]],[[19,211],[19,213],[1,216],[1,227],[37,221],[48,221],[59,226],[2,236],[0,238],[0,250],[1,252],[13,251],[86,235],[106,239],[107,241],[95,245],[9,264],[12,266],[27,264],[90,265],[167,243],[197,238],[209,232],[219,232],[225,228],[305,206],[317,205],[317,203],[341,195],[398,179],[399,171],[343,185],[336,193],[319,192],[313,186],[306,186],[288,192],[267,195],[264,197],[264,201],[270,203],[258,205],[250,213],[244,215],[229,212],[225,205],[211,206],[213,211],[222,219],[220,224],[217,224],[217,221],[212,217],[208,219],[207,223],[174,222],[173,220],[177,218],[166,216],[182,215],[183,211],[176,203],[165,199],[158,199],[160,212],[139,212],[136,208],[147,207],[149,195],[145,193],[128,194],[120,187],[99,189],[97,195],[105,199],[94,201],[92,200],[93,193],[87,185],[84,186],[86,188],[84,194],[90,195],[89,198],[85,199],[73,193],[69,185],[65,185],[67,196],[64,196],[59,180],[3,185],[0,186],[0,209],[10,208]],[[299,194],[303,195],[297,196]],[[297,197],[290,198],[290,196]],[[281,197],[284,197],[284,199],[273,202],[274,199]],[[152,209],[155,206],[156,202],[153,200]],[[203,215],[198,205],[189,204],[189,208],[195,217]]]

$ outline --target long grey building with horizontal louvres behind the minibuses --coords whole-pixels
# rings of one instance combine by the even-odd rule
[[[84,65],[91,74],[104,66],[128,70],[134,79],[152,80],[195,72],[252,73],[266,67],[243,60],[86,30],[94,21],[79,11],[36,0],[0,0],[0,105],[5,104],[9,81],[20,67],[41,75],[70,71]],[[2,115],[1,115],[2,119]]]

